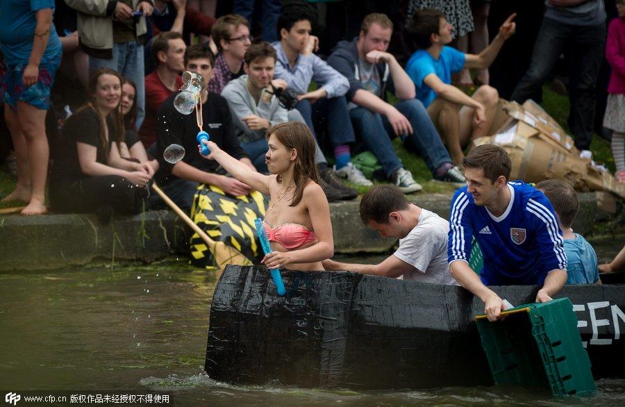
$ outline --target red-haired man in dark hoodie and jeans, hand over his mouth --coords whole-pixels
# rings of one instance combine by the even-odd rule
[[[420,190],[421,185],[397,157],[390,140],[395,136],[424,158],[435,179],[466,183],[462,172],[453,166],[423,103],[415,99],[415,84],[386,52],[392,31],[393,24],[386,15],[369,14],[358,38],[339,42],[328,58],[328,64],[349,80],[345,97],[351,102],[349,115],[354,130],[403,192]],[[394,92],[399,102],[388,103],[387,91]]]

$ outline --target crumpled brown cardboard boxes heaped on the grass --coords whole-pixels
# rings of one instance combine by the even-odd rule
[[[500,99],[491,130],[494,135],[473,140],[472,147],[503,147],[512,160],[511,179],[538,183],[560,178],[578,191],[608,191],[625,198],[625,185],[592,160],[580,158],[572,138],[534,101],[520,106]]]

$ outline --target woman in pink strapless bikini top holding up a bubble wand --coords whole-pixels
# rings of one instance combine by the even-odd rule
[[[269,195],[265,231],[274,252],[263,259],[270,269],[323,270],[322,260],[334,254],[330,206],[319,184],[315,165],[315,140],[306,125],[289,122],[267,130],[269,150],[265,163],[271,175],[254,172],[205,142],[206,158],[251,188]]]

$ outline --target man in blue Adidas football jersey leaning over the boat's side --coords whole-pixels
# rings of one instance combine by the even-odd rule
[[[487,285],[542,285],[536,302],[547,302],[567,281],[567,256],[556,214],[542,192],[508,182],[510,156],[494,144],[472,149],[463,160],[469,184],[451,200],[447,258],[453,277],[480,297],[491,321],[505,309]],[[469,267],[472,238],[484,267]]]

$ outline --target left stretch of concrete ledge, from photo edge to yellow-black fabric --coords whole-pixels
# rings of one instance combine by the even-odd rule
[[[10,215],[0,219],[0,271],[54,269],[93,260],[151,262],[188,252],[190,233],[166,210],[117,217]]]

